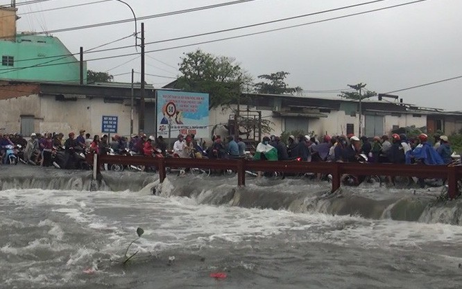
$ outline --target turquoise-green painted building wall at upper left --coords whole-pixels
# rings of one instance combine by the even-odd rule
[[[53,36],[17,35],[16,42],[0,41],[0,57],[8,55],[15,60],[13,67],[0,65],[0,79],[78,83],[80,64],[69,54],[66,46]],[[49,58],[56,55],[69,56]],[[84,83],[87,83],[85,62],[83,71]]]

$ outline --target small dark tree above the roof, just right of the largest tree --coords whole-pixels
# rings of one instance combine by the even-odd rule
[[[284,82],[284,79],[289,74],[289,72],[277,71],[276,73],[258,76],[258,78],[265,81],[255,83],[255,91],[257,94],[293,94],[301,91],[301,87],[288,87]]]

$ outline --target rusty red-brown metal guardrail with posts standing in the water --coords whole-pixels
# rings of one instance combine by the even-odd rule
[[[459,195],[458,180],[462,179],[462,166],[425,166],[422,164],[355,164],[341,162],[306,161],[248,161],[246,159],[183,159],[157,158],[146,156],[99,155],[96,174],[100,174],[101,164],[121,164],[124,166],[155,166],[160,182],[166,177],[166,168],[210,168],[234,170],[238,185],[246,185],[246,170],[280,173],[327,173],[332,175],[332,192],[341,186],[341,177],[350,175],[390,175],[446,179],[450,199]],[[94,164],[94,156],[87,155],[87,162]]]

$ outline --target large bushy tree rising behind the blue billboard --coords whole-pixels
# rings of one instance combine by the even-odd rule
[[[214,56],[197,50],[181,58],[177,87],[209,94],[209,109],[237,103],[242,87],[251,82],[233,58]]]

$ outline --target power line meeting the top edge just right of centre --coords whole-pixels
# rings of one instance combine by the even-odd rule
[[[44,0],[44,1],[50,1],[50,0]],[[213,5],[208,5],[208,6],[200,6],[200,7],[196,7],[196,8],[177,10],[177,11],[173,11],[173,12],[165,12],[165,13],[156,14],[156,15],[148,15],[148,16],[144,16],[144,17],[137,17],[137,20],[146,20],[146,19],[153,19],[153,18],[159,18],[159,17],[166,17],[166,16],[172,16],[172,15],[184,14],[184,13],[189,13],[189,12],[196,12],[196,11],[200,11],[200,10],[214,9],[214,8],[225,7],[225,6],[235,5],[235,4],[239,4],[239,3],[246,3],[246,2],[251,2],[251,1],[257,1],[257,0],[230,1],[230,2],[213,4]],[[26,33],[24,35],[40,35],[40,34],[67,32],[67,31],[72,31],[72,30],[81,30],[81,29],[95,28],[95,27],[100,27],[100,26],[122,24],[122,23],[126,23],[126,22],[131,22],[131,21],[133,21],[133,19],[121,19],[121,20],[108,21],[108,22],[103,22],[103,23],[98,23],[98,24],[88,24],[88,25],[83,25],[83,26],[74,26],[74,27],[68,27],[68,28],[59,28],[59,29],[55,29],[55,30]],[[11,37],[14,37],[14,36],[15,35],[8,35],[8,36],[0,37],[0,39],[1,38],[11,38]]]

